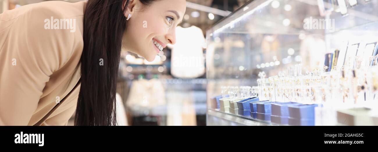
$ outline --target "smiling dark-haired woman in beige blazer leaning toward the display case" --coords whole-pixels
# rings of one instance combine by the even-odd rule
[[[0,125],[67,125],[75,110],[75,125],[116,124],[121,47],[152,61],[185,11],[185,0],[89,0],[0,14]]]

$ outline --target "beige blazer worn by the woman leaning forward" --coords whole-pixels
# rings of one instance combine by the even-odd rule
[[[84,46],[85,5],[86,1],[48,1],[0,14],[0,125],[36,124],[76,85]],[[53,23],[72,19],[76,29],[49,29],[51,18]],[[79,89],[42,125],[67,125]]]

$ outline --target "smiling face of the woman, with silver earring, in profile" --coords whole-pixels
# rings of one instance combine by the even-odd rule
[[[132,17],[126,21],[124,47],[147,61],[153,61],[168,43],[176,43],[175,29],[183,20],[185,11],[185,0],[158,0],[149,6],[139,0],[130,1],[125,17],[128,14]]]

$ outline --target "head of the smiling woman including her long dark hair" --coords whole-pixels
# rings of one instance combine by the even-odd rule
[[[115,124],[121,41],[127,51],[152,61],[167,43],[175,43],[175,28],[185,10],[185,0],[88,1],[76,125]],[[93,64],[98,59],[104,59],[104,66]]]

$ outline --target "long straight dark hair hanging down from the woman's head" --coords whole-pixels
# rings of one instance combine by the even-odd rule
[[[116,125],[116,83],[122,36],[127,28],[123,0],[88,0],[84,12],[81,88],[75,126]],[[139,0],[150,5],[156,0]],[[130,0],[126,0],[125,6]]]

